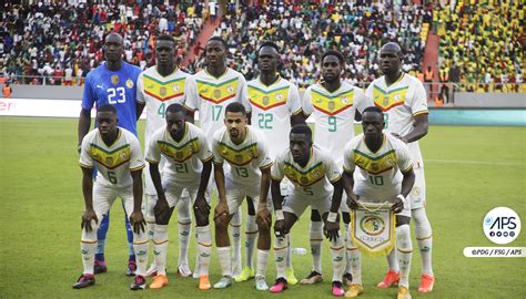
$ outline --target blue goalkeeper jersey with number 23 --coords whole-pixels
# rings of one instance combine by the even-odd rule
[[[91,111],[93,104],[100,107],[112,104],[117,109],[118,125],[136,136],[136,79],[141,69],[125,63],[117,72],[109,71],[105,62],[88,73],[82,95],[82,109]]]

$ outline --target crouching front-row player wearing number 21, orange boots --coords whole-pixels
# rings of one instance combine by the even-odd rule
[[[180,104],[171,104],[165,110],[165,126],[155,131],[149,143],[146,161],[159,199],[154,206],[155,226],[153,250],[158,275],[150,285],[151,289],[160,289],[168,285],[165,265],[168,251],[168,224],[173,208],[188,192],[194,203],[196,221],[198,255],[200,256],[201,278],[199,288],[211,288],[209,280],[210,252],[212,237],[210,235],[210,205],[205,199],[205,190],[212,171],[212,152],[201,128],[184,121],[185,110]],[[165,158],[163,177],[159,172],[161,156]]]

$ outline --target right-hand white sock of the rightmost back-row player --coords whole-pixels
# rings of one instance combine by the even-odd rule
[[[412,213],[415,221],[416,244],[418,244],[422,256],[422,274],[433,276],[433,231],[431,224],[427,219],[425,208],[414,209]]]

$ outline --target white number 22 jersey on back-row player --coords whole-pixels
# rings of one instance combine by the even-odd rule
[[[271,141],[269,151],[274,159],[289,147],[291,115],[302,112],[300,93],[296,85],[283,78],[269,86],[257,78],[250,81],[247,86],[252,126],[257,127]]]

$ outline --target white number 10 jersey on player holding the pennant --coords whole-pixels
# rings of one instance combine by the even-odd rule
[[[356,172],[354,194],[372,202],[394,199],[402,189],[402,173],[413,168],[407,145],[391,134],[383,134],[383,144],[373,153],[360,134],[344,150],[344,171]],[[357,169],[356,169],[357,166]]]

